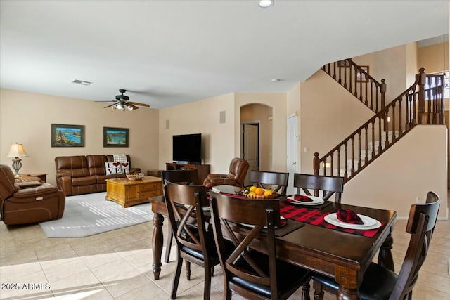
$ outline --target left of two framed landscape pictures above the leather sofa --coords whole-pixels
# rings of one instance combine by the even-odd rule
[[[51,147],[84,147],[84,125],[51,124]]]

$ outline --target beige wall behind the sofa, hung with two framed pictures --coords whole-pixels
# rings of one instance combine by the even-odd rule
[[[56,184],[55,157],[65,155],[131,155],[133,167],[158,167],[158,110],[132,112],[103,109],[105,103],[0,89],[0,162],[11,166],[12,143],[23,143],[22,173],[48,173]],[[51,124],[85,126],[84,147],[51,147]],[[128,148],[103,148],[103,126],[129,129]]]

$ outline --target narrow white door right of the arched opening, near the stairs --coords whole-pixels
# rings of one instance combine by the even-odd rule
[[[294,173],[298,173],[298,143],[300,137],[298,135],[298,117],[292,115],[288,117],[288,195],[294,195],[296,189],[294,188]]]

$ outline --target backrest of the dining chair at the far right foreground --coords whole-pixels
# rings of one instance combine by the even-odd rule
[[[401,265],[397,283],[390,295],[392,300],[404,299],[416,284],[418,272],[430,248],[430,241],[439,212],[440,200],[439,196],[435,196],[437,195],[432,193],[428,203],[411,205],[408,223],[406,224],[406,232],[411,233],[411,239]]]

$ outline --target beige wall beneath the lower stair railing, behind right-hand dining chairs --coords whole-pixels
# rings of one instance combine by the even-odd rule
[[[344,186],[342,203],[393,209],[407,219],[416,197],[441,197],[439,218],[447,216],[446,127],[416,126]]]

